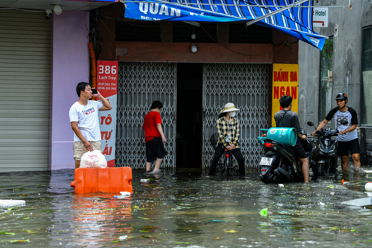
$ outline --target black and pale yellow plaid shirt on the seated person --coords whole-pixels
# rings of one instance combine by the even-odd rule
[[[239,131],[239,123],[236,118],[230,118],[229,123],[225,117],[221,117],[217,120],[217,132],[219,134],[217,144],[222,143],[224,148],[229,146],[230,144],[228,144],[225,139],[230,133],[230,143],[234,144],[236,148],[239,148],[237,145],[239,141]]]

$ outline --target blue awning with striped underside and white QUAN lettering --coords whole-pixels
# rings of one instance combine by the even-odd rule
[[[255,22],[280,30],[322,50],[325,36],[312,30],[312,0],[122,0],[124,16],[148,21]],[[303,2],[299,5],[298,2]],[[289,6],[294,6],[289,8]],[[281,8],[283,10],[278,12]],[[273,15],[271,15],[273,14]],[[271,16],[270,16],[271,15]]]

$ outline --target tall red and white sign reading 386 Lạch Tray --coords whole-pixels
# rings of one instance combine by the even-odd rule
[[[113,108],[99,112],[102,154],[106,157],[107,167],[115,167],[116,106],[118,96],[118,62],[97,61],[97,90],[109,100]]]

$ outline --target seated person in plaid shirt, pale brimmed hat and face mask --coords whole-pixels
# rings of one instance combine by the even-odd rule
[[[210,164],[208,176],[212,176],[216,172],[217,163],[220,160],[225,149],[231,151],[239,164],[239,172],[241,177],[245,176],[245,159],[239,148],[239,123],[236,116],[236,111],[233,103],[226,103],[222,109],[219,119],[217,120],[217,132],[219,134],[218,143],[215,151],[215,156]]]

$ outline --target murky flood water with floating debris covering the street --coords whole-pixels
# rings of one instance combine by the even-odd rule
[[[133,194],[75,194],[73,170],[0,174],[0,247],[371,247],[372,174],[338,172],[284,187],[195,172],[133,171]],[[149,183],[140,179],[149,178]],[[341,184],[341,179],[346,183]],[[265,213],[267,209],[267,213]]]

